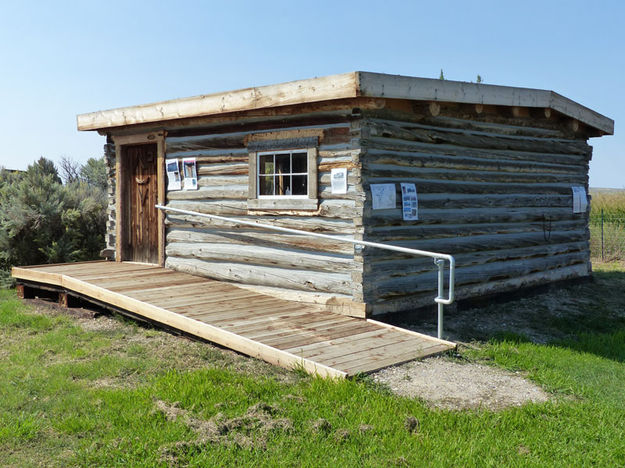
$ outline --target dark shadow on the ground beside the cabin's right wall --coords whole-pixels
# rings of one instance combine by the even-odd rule
[[[436,314],[422,310],[389,322],[436,334]],[[466,342],[532,342],[625,362],[625,265],[595,266],[591,281],[554,283],[445,311],[445,337]]]

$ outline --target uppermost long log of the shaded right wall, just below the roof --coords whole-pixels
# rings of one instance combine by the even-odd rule
[[[394,124],[382,123],[379,120],[368,122],[367,127],[372,138],[383,137],[423,143],[450,144],[468,148],[570,153],[584,156],[589,156],[592,152],[592,148],[585,141],[581,140],[498,135],[482,131],[429,127],[404,122]]]

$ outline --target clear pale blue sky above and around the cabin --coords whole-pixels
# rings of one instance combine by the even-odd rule
[[[0,0],[0,165],[85,161],[76,114],[354,70],[552,89],[616,122],[590,183],[625,188],[625,2]]]

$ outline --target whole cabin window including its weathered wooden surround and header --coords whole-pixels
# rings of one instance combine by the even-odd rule
[[[248,209],[316,210],[317,138],[250,141]]]

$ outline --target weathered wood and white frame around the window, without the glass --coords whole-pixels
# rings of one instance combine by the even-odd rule
[[[307,153],[307,188],[306,195],[259,195],[259,157],[267,154]],[[251,151],[249,153],[249,198],[250,210],[316,210],[317,199],[317,148],[281,148],[273,151]],[[300,174],[300,173],[297,173]],[[291,173],[293,175],[293,173]]]

